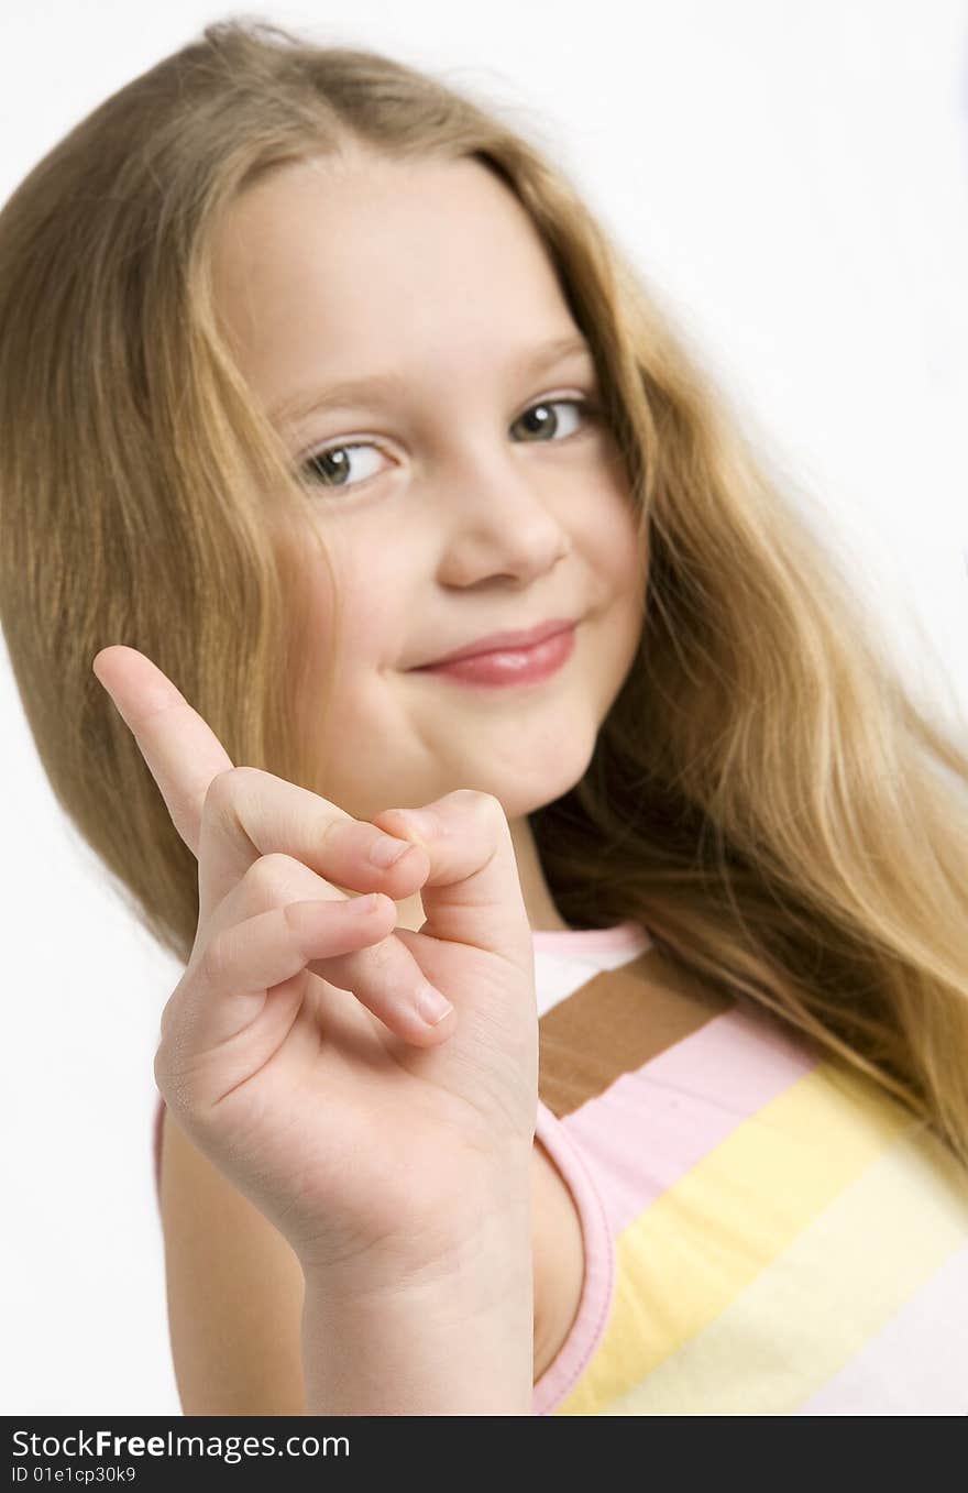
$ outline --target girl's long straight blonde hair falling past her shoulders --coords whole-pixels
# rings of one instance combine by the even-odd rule
[[[308,497],[233,363],[211,266],[239,191],[347,148],[472,158],[514,193],[627,470],[639,655],[583,779],[532,815],[559,911],[639,920],[968,1165],[964,744],[914,703],[834,551],[563,173],[500,110],[372,51],[209,25],[0,212],[0,618],[60,805],[187,960],[196,863],[94,654],[142,649],[233,761],[324,791],[296,703]]]

